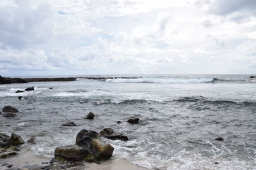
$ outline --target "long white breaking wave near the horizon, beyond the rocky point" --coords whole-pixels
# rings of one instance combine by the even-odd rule
[[[106,79],[109,83],[212,83],[214,78],[115,78]]]

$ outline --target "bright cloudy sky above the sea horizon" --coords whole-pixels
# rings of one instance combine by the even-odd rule
[[[255,74],[255,0],[1,0],[0,74]]]

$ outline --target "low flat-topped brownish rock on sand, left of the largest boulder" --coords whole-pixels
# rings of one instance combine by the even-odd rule
[[[62,157],[68,160],[83,160],[90,153],[78,145],[67,145],[57,147],[54,151],[55,157]]]

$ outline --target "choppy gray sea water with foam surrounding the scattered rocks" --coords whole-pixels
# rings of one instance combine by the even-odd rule
[[[0,85],[0,108],[11,105],[20,111],[15,118],[0,115],[0,132],[17,132],[25,140],[36,136],[36,145],[23,147],[53,157],[56,146],[74,144],[81,129],[99,132],[111,127],[129,137],[104,139],[115,148],[112,159],[152,169],[255,169],[256,79],[142,77]],[[34,91],[15,94],[31,86]],[[90,111],[97,116],[84,120]],[[128,124],[130,117],[140,118],[140,124]],[[116,124],[118,120],[122,124]],[[79,126],[61,126],[68,121]],[[224,141],[214,140],[218,137]]]

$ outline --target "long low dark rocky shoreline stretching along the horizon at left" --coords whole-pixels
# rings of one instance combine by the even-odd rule
[[[29,82],[41,82],[41,81],[76,81],[77,78],[88,80],[106,80],[106,79],[136,79],[140,77],[61,77],[61,78],[8,78],[0,76],[0,84],[12,84],[12,83],[29,83]]]

